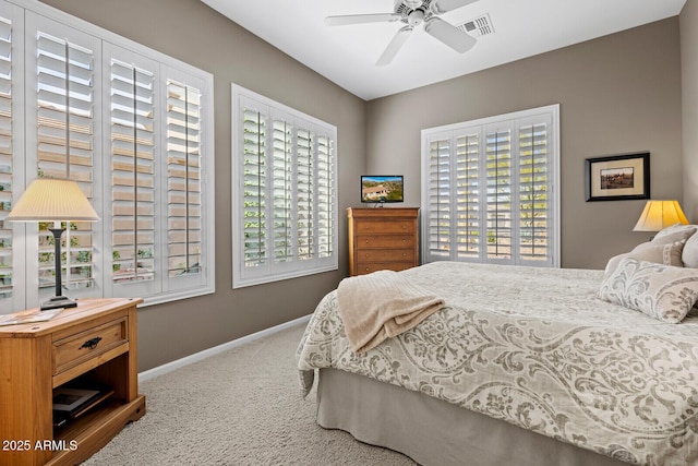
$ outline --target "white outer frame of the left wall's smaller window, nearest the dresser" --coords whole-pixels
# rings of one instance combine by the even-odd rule
[[[279,104],[268,97],[260,95],[253,91],[246,89],[237,84],[231,84],[232,104],[231,104],[231,199],[232,199],[232,288],[242,288],[246,286],[261,285],[266,283],[279,282],[289,278],[296,278],[323,272],[336,271],[338,268],[338,241],[337,241],[337,128],[333,124],[324,122],[315,117],[303,113],[284,104]],[[324,135],[329,135],[335,143],[334,154],[334,191],[332,213],[333,235],[333,253],[328,258],[314,259],[312,264],[303,264],[303,261],[294,260],[290,263],[278,265],[277,267],[263,267],[260,271],[245,271],[244,268],[244,232],[243,217],[240,204],[243,202],[244,187],[242,177],[239,176],[241,170],[240,154],[243,153],[243,134],[239,131],[240,122],[243,118],[244,101],[254,100],[261,106],[267,107],[268,117],[284,115],[291,118],[302,119],[311,123],[316,130]],[[272,135],[272,131],[267,136]],[[269,145],[270,147],[270,145]],[[270,188],[267,187],[267,191]],[[267,194],[270,199],[270,194]],[[296,236],[294,236],[296,237]],[[310,261],[309,261],[310,262]]]

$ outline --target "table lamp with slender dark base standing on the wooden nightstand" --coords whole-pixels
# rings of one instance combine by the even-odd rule
[[[37,178],[20,196],[8,220],[53,222],[56,249],[56,296],[41,303],[40,309],[74,308],[77,303],[61,292],[61,236],[65,228],[61,222],[96,222],[99,217],[89,201],[72,180]]]

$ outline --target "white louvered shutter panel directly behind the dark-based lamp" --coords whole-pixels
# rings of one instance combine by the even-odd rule
[[[34,72],[27,83],[35,94],[27,95],[29,107],[27,153],[36,151],[35,167],[27,164],[27,180],[36,177],[67,178],[76,181],[88,200],[98,203],[95,183],[100,165],[95,156],[96,115],[95,82],[98,75],[99,44],[87,34],[69,28],[43,16],[27,13],[27,55],[34,51]],[[35,80],[35,81],[34,81]],[[33,144],[35,142],[35,144]],[[39,223],[38,277],[41,296],[55,289],[52,225]],[[96,228],[92,223],[70,223],[62,236],[63,286],[72,297],[89,296],[84,290],[98,285],[100,271],[94,262]],[[83,291],[81,291],[83,290]]]

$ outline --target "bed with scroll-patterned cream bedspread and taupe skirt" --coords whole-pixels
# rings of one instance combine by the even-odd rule
[[[424,465],[698,464],[698,271],[666,265],[672,251],[660,249],[657,262],[624,254],[605,272],[456,262],[399,272],[444,306],[362,353],[329,292],[297,351],[305,394],[318,379],[317,422]],[[679,318],[600,299],[604,285],[642,295],[630,282],[664,270],[688,283],[674,296]]]

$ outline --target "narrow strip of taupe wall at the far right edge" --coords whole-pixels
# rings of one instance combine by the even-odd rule
[[[679,16],[684,211],[698,223],[698,1],[688,0]]]

